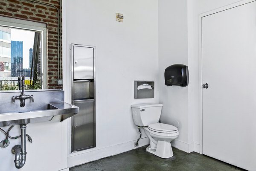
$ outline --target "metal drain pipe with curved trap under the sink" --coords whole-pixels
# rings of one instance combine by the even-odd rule
[[[12,148],[12,154],[15,154],[15,167],[22,168],[26,162],[26,124],[20,125],[21,145],[15,145]]]

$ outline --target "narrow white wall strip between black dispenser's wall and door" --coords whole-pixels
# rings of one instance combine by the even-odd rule
[[[243,0],[192,0],[189,3],[189,72],[193,74],[194,78],[190,77],[189,87],[189,123],[192,128],[191,136],[192,142],[195,144],[194,151],[202,153],[202,149],[199,149],[198,145],[201,145],[201,123],[200,123],[200,104],[199,95],[201,91],[200,79],[200,64],[199,64],[199,14],[218,9],[232,3],[236,3]],[[244,0],[245,2],[245,0]],[[190,75],[192,76],[192,75]]]

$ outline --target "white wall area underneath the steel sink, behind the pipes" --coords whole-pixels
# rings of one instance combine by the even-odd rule
[[[63,134],[64,122],[59,122],[55,117],[52,121],[28,124],[26,133],[32,137],[33,143],[26,141],[26,163],[20,171],[58,171],[67,168],[67,144],[66,135]],[[2,127],[6,130],[10,127]],[[66,133],[67,131],[65,131]],[[20,135],[20,128],[16,125],[10,131],[11,136]],[[0,140],[5,139],[0,133]],[[10,145],[7,148],[0,148],[0,170],[17,171],[13,160],[15,155],[11,153],[12,147],[20,145],[19,139],[9,139]]]

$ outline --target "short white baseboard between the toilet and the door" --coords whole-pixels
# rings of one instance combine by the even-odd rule
[[[175,147],[181,151],[185,151],[186,153],[191,153],[193,151],[199,153],[199,149],[200,149],[200,146],[199,144],[196,144],[196,143],[186,143],[186,142],[182,142],[178,139],[175,139],[173,142],[172,142],[172,147]]]

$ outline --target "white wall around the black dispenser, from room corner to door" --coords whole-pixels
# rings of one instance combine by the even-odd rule
[[[199,23],[198,16],[239,0],[159,0],[159,101],[161,122],[180,122],[180,136],[172,143],[186,151],[200,151]],[[164,70],[172,64],[189,67],[188,87],[166,87]]]

